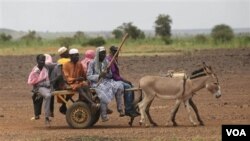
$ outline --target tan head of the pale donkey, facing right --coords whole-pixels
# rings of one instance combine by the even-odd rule
[[[213,72],[211,66],[207,66],[203,62],[203,70],[208,77],[206,81],[206,89],[211,92],[216,98],[221,97],[220,84],[217,75]]]

